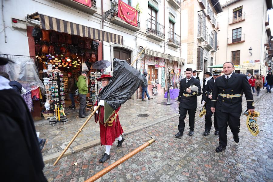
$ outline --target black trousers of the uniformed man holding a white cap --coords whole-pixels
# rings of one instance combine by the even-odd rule
[[[179,107],[179,124],[178,124],[178,131],[184,132],[185,130],[185,118],[187,115],[187,112],[189,113],[189,126],[190,130],[194,130],[194,120],[195,120],[195,113],[196,108],[194,109],[185,109],[182,107]]]

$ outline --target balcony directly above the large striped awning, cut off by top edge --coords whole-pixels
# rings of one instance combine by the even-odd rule
[[[96,0],[91,0],[91,2],[90,2],[91,7],[86,5],[87,3],[85,4],[85,1],[84,1],[84,3],[79,3],[74,0],[54,0],[54,1],[59,2],[63,5],[67,5],[70,8],[75,8],[75,9],[80,10],[82,12],[86,12],[88,14],[94,14],[97,12],[97,6],[96,6],[97,1]]]

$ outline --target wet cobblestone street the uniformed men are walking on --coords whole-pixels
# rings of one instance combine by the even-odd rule
[[[213,134],[214,129],[208,136],[203,136],[204,117],[200,118],[197,112],[193,136],[187,135],[187,117],[184,136],[174,138],[178,125],[178,117],[174,117],[126,135],[119,149],[115,142],[110,151],[111,158],[105,163],[98,162],[104,146],[96,146],[63,157],[55,167],[53,162],[47,163],[44,174],[49,182],[84,181],[155,137],[155,143],[97,181],[273,181],[273,95],[263,92],[259,97],[261,99],[255,103],[255,110],[260,112],[258,136],[251,135],[245,124],[246,116],[241,116],[240,142],[233,141],[228,128],[227,149],[221,153],[215,152],[218,136]]]

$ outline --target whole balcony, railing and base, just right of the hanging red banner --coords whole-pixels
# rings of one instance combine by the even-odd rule
[[[165,41],[165,26],[149,18],[146,20],[146,36],[159,42]]]

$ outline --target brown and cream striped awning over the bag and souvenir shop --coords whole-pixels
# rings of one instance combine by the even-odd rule
[[[79,35],[100,41],[113,42],[123,45],[123,36],[94,29],[88,26],[79,25],[65,20],[53,18],[47,15],[39,14],[41,29],[65,32],[70,35]]]

